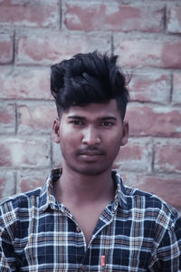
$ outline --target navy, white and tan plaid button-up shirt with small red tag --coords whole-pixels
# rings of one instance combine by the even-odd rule
[[[53,197],[52,170],[42,189],[0,205],[0,271],[181,271],[181,219],[157,197],[117,185],[86,246],[71,212]]]

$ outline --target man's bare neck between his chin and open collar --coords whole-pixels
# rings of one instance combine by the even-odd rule
[[[54,193],[55,198],[61,202],[67,202],[67,199],[75,204],[109,202],[114,197],[111,170],[88,176],[63,168],[61,179],[55,184]]]

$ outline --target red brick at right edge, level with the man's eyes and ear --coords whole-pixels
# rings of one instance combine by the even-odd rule
[[[126,119],[130,135],[180,137],[181,111],[161,106],[138,106],[129,103]]]

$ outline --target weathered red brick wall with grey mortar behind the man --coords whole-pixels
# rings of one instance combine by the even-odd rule
[[[95,49],[133,73],[115,167],[181,209],[180,0],[0,0],[0,197],[43,184],[61,163],[49,67]]]

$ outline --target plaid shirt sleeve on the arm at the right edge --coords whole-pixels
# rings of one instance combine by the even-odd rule
[[[167,226],[150,271],[181,272],[181,218],[177,214]]]

